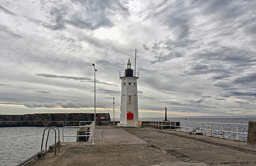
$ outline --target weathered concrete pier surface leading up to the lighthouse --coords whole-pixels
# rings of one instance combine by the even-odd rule
[[[24,166],[256,166],[256,145],[179,131],[96,126],[94,143],[62,143]]]

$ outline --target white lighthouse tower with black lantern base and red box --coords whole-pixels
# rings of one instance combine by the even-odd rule
[[[138,95],[137,80],[139,71],[132,70],[130,59],[127,62],[126,70],[120,70],[122,80],[121,114],[119,127],[141,127],[138,118]]]

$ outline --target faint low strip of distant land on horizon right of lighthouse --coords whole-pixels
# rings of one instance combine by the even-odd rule
[[[164,117],[141,117],[141,118],[163,118]],[[244,116],[224,116],[224,115],[219,115],[219,116],[183,116],[183,117],[168,117],[167,118],[256,118],[256,116],[251,116],[251,115],[244,115]]]

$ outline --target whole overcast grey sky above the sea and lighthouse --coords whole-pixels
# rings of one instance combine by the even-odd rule
[[[256,115],[256,1],[0,0],[0,114]]]

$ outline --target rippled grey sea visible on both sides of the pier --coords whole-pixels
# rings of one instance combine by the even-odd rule
[[[115,119],[118,120],[118,119]],[[148,121],[148,120],[163,120],[162,118],[142,118],[141,121]],[[180,118],[169,118],[170,121],[185,121],[185,122],[212,122],[212,123],[241,123],[241,124],[248,124],[250,120],[256,119],[249,119],[249,118],[187,118],[180,119]],[[182,123],[184,126],[185,123]],[[199,124],[200,125],[200,124]],[[189,126],[189,125],[188,125]],[[197,127],[196,124],[194,127]],[[198,126],[198,127],[201,127]],[[222,129],[221,126],[216,126],[217,128]],[[226,128],[229,130],[236,131],[236,125],[226,125]],[[226,128],[224,130],[226,130]],[[31,155],[35,154],[36,152],[40,151],[41,143],[42,143],[42,135],[45,127],[0,127],[0,166],[13,166],[18,164],[22,160],[30,157]],[[62,141],[62,127],[60,129],[60,141]],[[65,135],[75,135],[77,129],[68,128],[65,129]],[[186,129],[182,128],[182,131]],[[247,133],[247,126],[244,125],[239,132]],[[44,143],[46,142],[48,130],[46,130]],[[203,131],[204,135],[209,135],[208,131]],[[214,137],[222,137],[222,132],[215,132],[213,133]],[[236,134],[229,134],[225,133],[224,137],[226,139],[234,139],[236,140]],[[246,141],[247,135],[240,135],[240,141]],[[58,131],[57,131],[57,141],[58,141]],[[64,141],[72,141],[75,142],[75,137],[65,137]],[[50,131],[48,146],[54,143],[54,131]],[[45,149],[45,144],[43,145],[43,149]]]

